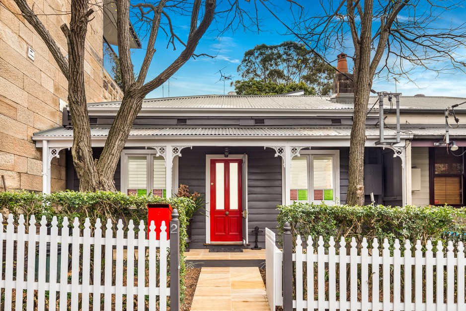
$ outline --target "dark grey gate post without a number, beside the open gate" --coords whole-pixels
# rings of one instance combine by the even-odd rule
[[[283,310],[293,310],[293,236],[289,222],[283,227]]]

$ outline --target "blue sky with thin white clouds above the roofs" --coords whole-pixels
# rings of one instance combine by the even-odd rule
[[[240,1],[244,9],[253,11],[253,1],[246,2]],[[284,4],[289,3],[282,1]],[[337,1],[339,2],[339,1]],[[236,71],[237,66],[243,58],[244,52],[252,49],[257,44],[279,44],[286,40],[299,41],[293,35],[286,35],[286,28],[280,24],[269,12],[263,7],[258,5],[258,16],[262,19],[262,31],[257,33],[252,30],[243,30],[242,28],[235,31],[228,31],[222,37],[218,37],[217,26],[213,24],[206,32],[204,37],[199,42],[196,53],[206,53],[214,55],[215,58],[199,57],[190,59],[178,72],[176,72],[169,82],[166,82],[163,87],[151,92],[147,98],[161,98],[161,97],[176,97],[176,96],[191,96],[191,95],[207,95],[207,94],[224,94],[224,82],[220,81],[220,70],[224,75],[231,75],[232,81],[240,79]],[[276,11],[285,20],[290,22],[291,17],[288,14],[288,6],[283,6],[281,9],[277,6]],[[463,8],[455,9],[443,21],[450,22],[456,18],[464,16],[465,10]],[[184,18],[178,18],[177,29],[179,33],[186,34],[187,27]],[[143,42],[144,42],[144,38]],[[166,40],[164,34],[160,32],[157,39],[157,52],[151,65],[148,79],[154,78],[165,66],[178,56],[181,51],[181,46],[177,45],[177,50],[173,51],[170,46],[166,48]],[[346,51],[352,54],[350,51]],[[144,56],[144,43],[143,49],[134,51],[135,71],[140,66],[140,62]],[[466,51],[463,53],[466,57]],[[335,59],[334,55],[326,55],[328,60]],[[336,62],[332,63],[336,65]],[[348,68],[352,67],[349,62]],[[396,84],[396,91],[403,95],[412,96],[416,94],[425,94],[427,96],[452,96],[452,97],[466,97],[465,87],[459,81],[464,81],[466,74],[462,72],[455,72],[450,74],[437,75],[434,72],[415,70],[411,75],[413,82],[406,79],[401,79]],[[395,81],[385,81],[383,79],[376,79],[373,89],[377,91],[395,92]],[[230,87],[230,81],[225,82],[225,94],[233,91],[234,88]]]

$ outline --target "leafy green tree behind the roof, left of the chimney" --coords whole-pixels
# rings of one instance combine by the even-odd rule
[[[237,70],[243,79],[232,83],[238,95],[273,95],[297,90],[305,90],[306,95],[329,95],[335,72],[304,44],[293,41],[256,45],[244,53]]]

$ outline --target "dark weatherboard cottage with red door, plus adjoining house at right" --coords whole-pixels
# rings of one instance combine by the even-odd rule
[[[179,184],[186,184],[206,194],[206,213],[193,219],[193,248],[253,242],[254,227],[277,226],[280,204],[344,204],[353,114],[351,83],[345,79],[335,78],[329,98],[290,94],[146,99],[121,154],[116,187],[128,194],[170,197]],[[449,128],[446,144],[445,108],[466,99],[401,96],[397,116],[396,97],[386,95],[384,115],[378,97],[369,105],[366,202],[372,193],[376,204],[465,205],[466,127],[461,122],[456,127],[450,117],[456,128]],[[88,104],[96,157],[119,106]],[[457,117],[465,114],[462,107],[456,108]],[[72,126],[65,109],[62,126],[36,132],[33,140],[38,148],[47,142],[43,156],[48,162],[65,152],[67,189],[78,190],[68,151]],[[50,184],[49,175],[44,182]],[[259,245],[263,242],[259,236]]]

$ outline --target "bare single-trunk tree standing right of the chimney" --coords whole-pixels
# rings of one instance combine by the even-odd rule
[[[295,28],[290,27],[293,33],[324,57],[343,51],[354,54],[347,204],[364,204],[364,192],[358,188],[364,185],[365,121],[374,78],[409,79],[416,68],[437,73],[464,72],[466,24],[455,17],[455,9],[464,3],[320,0],[320,8],[306,7],[307,4],[299,7],[303,18],[297,20]]]

